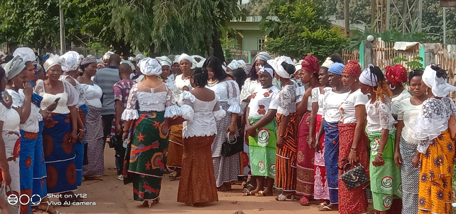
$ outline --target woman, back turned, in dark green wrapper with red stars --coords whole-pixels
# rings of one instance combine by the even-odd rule
[[[133,182],[133,199],[151,206],[160,200],[163,158],[168,144],[168,118],[179,115],[171,91],[158,77],[161,65],[145,58],[139,63],[145,80],[130,90],[123,139],[126,141],[124,183]],[[128,137],[127,137],[128,135]]]

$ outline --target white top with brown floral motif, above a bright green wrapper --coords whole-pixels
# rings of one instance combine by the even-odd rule
[[[279,89],[274,85],[267,88],[259,88],[254,91],[249,103],[249,116],[262,117],[268,114],[269,109],[277,109],[277,99],[275,97],[279,94]]]

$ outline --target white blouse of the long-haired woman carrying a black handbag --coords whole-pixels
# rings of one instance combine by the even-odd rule
[[[218,84],[215,84],[211,87],[208,87],[212,91],[218,94],[218,97],[220,98],[218,101],[219,102],[227,102],[229,107],[228,107],[228,112],[234,113],[234,114],[239,114],[241,113],[241,100],[239,98],[239,86],[238,83],[234,80],[227,80],[220,82]]]

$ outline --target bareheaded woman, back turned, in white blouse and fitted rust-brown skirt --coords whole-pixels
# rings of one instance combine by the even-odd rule
[[[212,142],[217,135],[216,120],[225,116],[218,94],[206,88],[207,70],[196,68],[192,74],[192,91],[184,91],[181,106],[184,153],[177,202],[191,206],[218,201],[212,163]],[[224,135],[221,133],[220,135]]]

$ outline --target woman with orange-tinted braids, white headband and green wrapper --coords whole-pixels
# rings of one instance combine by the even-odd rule
[[[393,199],[402,198],[400,169],[394,163],[396,128],[391,115],[391,90],[382,71],[369,64],[359,77],[363,94],[371,94],[366,106],[366,133],[370,141],[370,181],[373,208],[387,214]]]

